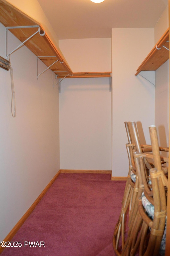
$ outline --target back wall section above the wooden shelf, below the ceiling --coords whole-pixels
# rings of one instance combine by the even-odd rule
[[[111,71],[111,39],[59,40],[59,47],[73,72]]]

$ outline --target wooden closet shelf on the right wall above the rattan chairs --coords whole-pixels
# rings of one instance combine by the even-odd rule
[[[169,28],[165,31],[161,39],[158,43],[154,46],[145,60],[137,69],[135,75],[138,75],[141,71],[153,71],[158,69],[165,61],[169,59],[169,51],[163,47],[163,45],[169,49]],[[160,50],[156,49],[161,48]]]

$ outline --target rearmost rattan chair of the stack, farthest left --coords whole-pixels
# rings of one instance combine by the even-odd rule
[[[135,144],[132,142],[132,136],[130,133],[130,128],[128,122],[125,122],[126,133],[128,137],[128,143],[126,144],[126,149],[129,159],[129,171],[128,178],[125,186],[124,197],[122,200],[122,209],[120,217],[115,226],[113,234],[113,247],[117,255],[122,255],[122,250],[124,249],[126,230],[131,230],[133,224],[133,216],[137,211],[137,205],[135,204],[137,194],[138,194],[138,176],[136,174],[136,167],[133,157],[133,152],[135,151]],[[141,145],[142,152],[151,151],[150,145]],[[147,163],[151,168],[150,164]],[[127,221],[128,220],[128,221]]]

